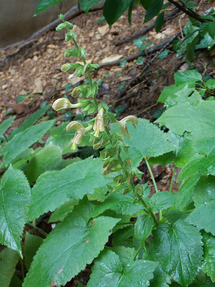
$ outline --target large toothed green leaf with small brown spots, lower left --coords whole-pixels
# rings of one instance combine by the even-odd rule
[[[64,286],[98,256],[119,219],[99,216],[90,221],[93,208],[85,197],[48,234],[23,287],[50,287],[51,282]]]

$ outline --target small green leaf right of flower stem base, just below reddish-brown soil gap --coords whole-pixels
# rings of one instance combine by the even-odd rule
[[[152,195],[149,203],[152,203],[153,209],[155,213],[157,213],[159,210],[163,210],[174,205],[176,203],[176,194],[169,191],[160,191]]]

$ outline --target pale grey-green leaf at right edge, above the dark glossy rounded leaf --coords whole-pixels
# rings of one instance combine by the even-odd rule
[[[204,229],[206,232],[211,232],[215,235],[215,202],[206,202],[200,204],[191,212],[185,219],[185,222],[195,225],[198,229]]]

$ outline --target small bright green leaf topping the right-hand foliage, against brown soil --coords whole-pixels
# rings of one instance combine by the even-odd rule
[[[175,84],[188,84],[192,82],[198,82],[202,79],[202,75],[196,70],[188,70],[185,72],[174,73]]]

